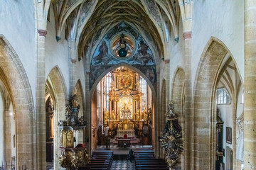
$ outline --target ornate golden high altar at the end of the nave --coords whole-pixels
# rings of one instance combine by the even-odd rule
[[[117,137],[124,134],[134,137],[134,128],[142,130],[142,96],[140,76],[127,68],[119,67],[113,72],[110,85],[109,108],[105,108],[104,125],[117,129]]]

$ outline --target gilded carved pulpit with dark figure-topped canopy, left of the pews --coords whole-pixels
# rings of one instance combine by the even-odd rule
[[[85,119],[78,117],[80,105],[77,101],[76,89],[68,99],[68,105],[65,109],[65,120],[60,120],[60,150],[59,164],[63,168],[78,169],[90,162],[87,149],[79,144],[74,148],[74,130],[83,130],[86,126]]]

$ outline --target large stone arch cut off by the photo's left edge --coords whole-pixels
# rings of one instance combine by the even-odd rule
[[[26,164],[28,169],[36,169],[36,120],[34,103],[28,77],[18,55],[3,35],[0,35],[1,79],[9,91],[16,115],[16,168]],[[38,152],[43,152],[43,148]]]

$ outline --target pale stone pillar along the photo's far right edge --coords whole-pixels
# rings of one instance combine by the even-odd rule
[[[245,0],[244,164],[256,169],[256,0]]]

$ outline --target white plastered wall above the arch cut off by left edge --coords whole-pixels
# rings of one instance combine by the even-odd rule
[[[36,30],[33,1],[1,0],[0,35],[1,34],[10,42],[26,70],[35,103]]]

